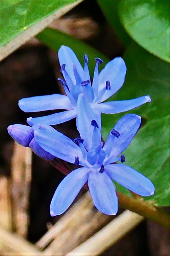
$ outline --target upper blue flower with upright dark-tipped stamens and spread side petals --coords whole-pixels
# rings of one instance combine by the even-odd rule
[[[132,100],[104,102],[115,94],[123,85],[126,75],[126,65],[121,57],[115,58],[99,73],[98,66],[103,61],[96,58],[93,83],[91,84],[88,56],[84,55],[84,69],[82,68],[75,53],[67,46],[61,46],[58,51],[58,58],[61,65],[62,78],[58,78],[65,89],[66,95],[53,94],[45,96],[35,96],[19,100],[19,107],[25,112],[37,112],[53,109],[66,109],[66,111],[51,114],[48,116],[29,117],[29,125],[44,123],[56,125],[77,117],[77,129],[81,131],[84,138],[85,133],[89,136],[93,130],[86,122],[82,129],[81,119],[96,120],[101,130],[101,113],[120,113],[136,108],[146,102],[150,102],[149,96],[142,96]],[[87,130],[87,129],[89,130]],[[88,143],[88,142],[87,142]],[[88,149],[91,144],[85,145]]]

